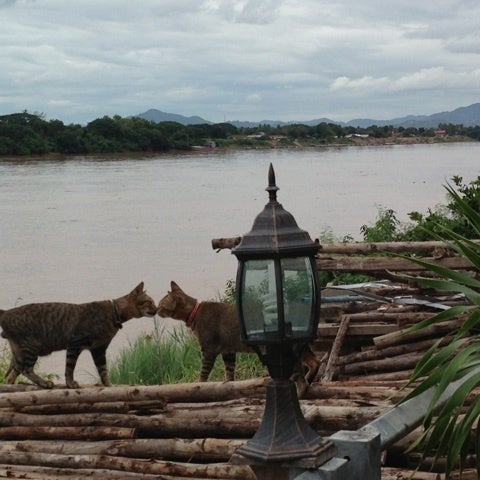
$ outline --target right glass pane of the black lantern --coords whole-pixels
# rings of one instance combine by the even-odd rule
[[[304,337],[311,329],[315,295],[309,257],[281,260],[285,315],[285,336]]]

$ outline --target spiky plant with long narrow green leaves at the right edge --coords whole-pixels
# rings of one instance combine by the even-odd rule
[[[465,231],[480,238],[478,210],[450,184],[447,184],[446,189],[451,200],[451,208],[458,212],[463,224],[468,227]],[[476,198],[478,199],[478,191]],[[459,255],[469,259],[473,266],[480,270],[480,244],[445,224],[440,225],[433,235],[449,242]],[[480,475],[478,430],[473,446],[471,441],[472,429],[475,426],[478,429],[480,416],[480,397],[472,395],[480,386],[480,341],[477,335],[471,335],[478,330],[480,322],[480,281],[465,273],[420,259],[411,260],[438,275],[437,278],[416,278],[420,284],[438,290],[462,293],[471,302],[471,305],[445,310],[411,328],[411,331],[416,331],[454,317],[464,317],[463,324],[455,332],[453,341],[443,347],[440,347],[440,341],[433,345],[417,364],[411,376],[411,384],[420,383],[404,401],[417,397],[429,388],[434,389],[434,395],[423,420],[424,433],[412,448],[421,447],[424,456],[433,454],[436,459],[444,456],[447,478],[457,465],[463,468],[467,454],[473,448],[477,472]],[[437,402],[447,388],[452,388],[452,382],[456,382],[454,391],[437,412]],[[473,398],[471,403],[467,404],[467,398]]]

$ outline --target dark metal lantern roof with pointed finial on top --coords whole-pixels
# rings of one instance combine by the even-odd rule
[[[275,171],[270,164],[268,170],[269,202],[253,222],[250,232],[243,235],[241,242],[232,249],[238,258],[271,258],[313,256],[320,245],[298,227],[293,215],[277,201]]]

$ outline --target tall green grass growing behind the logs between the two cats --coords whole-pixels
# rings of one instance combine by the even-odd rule
[[[152,335],[138,337],[123,349],[110,367],[110,380],[122,385],[162,385],[198,381],[201,353],[193,335],[182,328],[166,332],[156,328]],[[209,379],[222,381],[225,370],[217,358]],[[263,376],[265,367],[256,355],[237,354],[235,378]]]

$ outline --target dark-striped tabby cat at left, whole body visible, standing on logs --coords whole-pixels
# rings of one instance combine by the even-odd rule
[[[12,350],[6,383],[14,383],[23,374],[42,388],[52,388],[53,383],[38,376],[33,367],[39,356],[66,349],[65,380],[69,388],[78,388],[73,371],[80,352],[88,349],[102,384],[109,386],[106,350],[113,337],[127,320],[155,313],[155,302],[143,290],[143,282],[115,300],[32,303],[0,310],[2,337]]]

